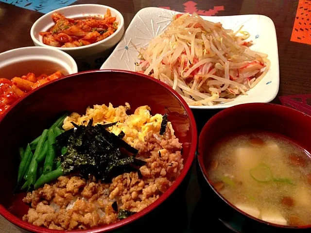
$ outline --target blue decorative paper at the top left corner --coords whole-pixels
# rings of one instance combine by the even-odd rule
[[[49,13],[55,9],[69,6],[76,0],[0,0],[1,2],[12,4],[32,11]]]

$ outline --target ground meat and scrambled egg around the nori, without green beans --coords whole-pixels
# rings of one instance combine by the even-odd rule
[[[83,116],[72,113],[64,119],[65,132],[56,137],[56,142],[66,132],[78,131],[79,126],[113,123],[106,130],[121,135],[123,141],[138,150],[135,158],[143,163],[138,162],[136,169],[113,173],[117,175],[111,177],[111,182],[96,176],[87,179],[75,171],[64,172],[57,180],[27,193],[23,201],[31,204],[31,208],[23,216],[24,221],[55,230],[110,224],[146,208],[173,184],[183,169],[183,159],[182,145],[174,135],[171,122],[166,115],[152,116],[148,106],[138,107],[132,115],[126,114],[128,109],[128,103],[116,108],[112,104],[94,105]],[[61,167],[66,171],[66,158],[62,156]]]

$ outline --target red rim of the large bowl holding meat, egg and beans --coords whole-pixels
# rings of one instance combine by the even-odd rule
[[[38,226],[35,226],[33,224],[30,224],[28,222],[25,222],[25,221],[21,220],[17,216],[11,214],[2,205],[0,205],[0,214],[4,218],[6,218],[10,222],[12,222],[13,224],[17,225],[18,227],[21,227],[21,228],[23,228],[25,230],[28,230],[28,231],[31,231],[31,232],[35,232],[35,233],[55,233],[55,232],[60,232],[60,233],[61,232],[69,232],[69,233],[101,233],[101,232],[107,232],[107,231],[111,231],[111,230],[116,230],[117,228],[120,228],[121,226],[125,226],[125,225],[127,225],[127,224],[129,224],[129,223],[131,223],[131,222],[133,222],[135,220],[137,220],[138,218],[148,214],[153,209],[155,209],[157,206],[159,206],[164,200],[166,200],[174,192],[174,190],[184,180],[185,176],[187,175],[188,171],[190,170],[190,167],[191,167],[192,162],[193,162],[194,157],[195,157],[195,151],[196,151],[196,147],[197,147],[197,129],[196,129],[196,123],[195,123],[194,116],[193,116],[193,114],[192,114],[192,112],[191,112],[187,102],[176,91],[174,91],[167,84],[162,83],[159,80],[156,80],[156,79],[151,78],[151,77],[149,77],[147,75],[140,74],[140,73],[137,73],[137,72],[127,71],[127,70],[118,70],[118,69],[90,70],[90,71],[84,71],[84,72],[79,72],[79,73],[71,74],[71,75],[65,76],[64,78],[61,78],[61,79],[53,80],[53,81],[51,81],[49,83],[45,83],[42,86],[39,86],[38,88],[30,91],[27,95],[25,95],[25,97],[20,98],[15,103],[13,103],[11,105],[11,107],[8,108],[6,110],[6,112],[2,114],[2,116],[0,116],[0,122],[7,115],[7,113],[10,112],[11,109],[14,108],[14,106],[18,102],[20,102],[21,100],[23,100],[27,96],[31,95],[35,91],[37,91],[37,90],[39,90],[41,88],[44,88],[44,86],[46,86],[46,85],[50,85],[51,83],[59,82],[62,79],[71,78],[73,76],[77,76],[77,75],[81,75],[81,74],[87,74],[87,73],[106,73],[106,72],[117,72],[117,73],[125,73],[125,74],[134,74],[134,75],[138,75],[138,76],[141,76],[143,78],[149,79],[152,82],[158,83],[161,86],[163,86],[164,88],[168,89],[181,102],[182,106],[185,108],[185,111],[186,111],[186,113],[187,113],[187,115],[189,117],[189,120],[190,120],[190,130],[191,130],[191,135],[192,135],[192,141],[191,141],[191,145],[190,145],[189,156],[188,156],[188,158],[186,160],[186,163],[184,164],[183,170],[181,171],[180,175],[177,177],[177,179],[173,183],[173,185],[165,193],[163,193],[155,202],[153,202],[152,204],[150,204],[148,207],[146,207],[145,209],[141,210],[137,214],[129,216],[129,217],[123,219],[123,220],[120,220],[118,222],[115,222],[115,223],[112,223],[112,224],[109,224],[109,225],[104,225],[104,226],[101,226],[101,227],[96,227],[96,228],[91,228],[91,229],[86,229],[86,230],[64,231],[64,230],[50,230],[50,229],[47,229],[47,228],[38,227]],[[87,82],[87,79],[86,79],[86,82]]]

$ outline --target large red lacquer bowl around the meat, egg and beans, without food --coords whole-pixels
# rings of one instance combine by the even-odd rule
[[[87,106],[130,103],[132,113],[141,105],[149,105],[152,114],[168,114],[173,129],[183,143],[184,169],[173,185],[144,210],[114,224],[71,233],[99,233],[115,230],[159,206],[184,180],[194,159],[197,131],[187,103],[172,88],[148,76],[130,71],[97,70],[69,75],[30,92],[0,117],[0,214],[15,225],[36,233],[65,232],[49,230],[24,222],[21,218],[29,206],[22,202],[25,193],[12,195],[19,165],[17,147],[35,139],[49,128],[64,111],[84,114]],[[130,113],[131,113],[130,111]]]

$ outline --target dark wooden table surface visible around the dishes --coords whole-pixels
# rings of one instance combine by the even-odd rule
[[[23,6],[24,8],[3,2],[13,2],[13,4]],[[41,12],[25,9],[34,7],[35,2],[37,1],[0,0],[0,52],[19,47],[33,46],[30,38],[30,28],[35,20],[43,15],[41,12],[48,12],[53,7],[56,9],[67,6],[68,3],[97,3],[116,8],[123,14],[125,27],[129,25],[134,15],[141,8],[149,6],[163,7],[179,12],[192,13],[196,11],[199,14],[216,16],[260,14],[270,17],[276,26],[280,88],[273,102],[280,103],[278,99],[280,96],[311,94],[311,12],[309,12],[308,16],[305,14],[305,18],[310,20],[304,21],[307,22],[305,25],[304,23],[302,25],[299,24],[301,22],[300,12],[304,10],[307,4],[309,4],[309,10],[311,10],[311,0],[300,0],[299,2],[298,0],[197,0],[197,3],[187,0],[50,0],[47,1],[47,6],[35,6],[35,9]],[[59,5],[55,6],[55,4]],[[296,15],[297,9],[299,15]],[[296,17],[298,18],[296,19]],[[294,27],[295,19],[297,21]],[[309,35],[307,34],[306,38],[301,37],[301,40],[297,39],[300,35],[306,35],[305,30],[309,30]],[[293,36],[292,32],[294,32]],[[292,40],[305,43],[293,42],[291,37]],[[201,130],[207,119],[216,112],[210,110],[194,111],[198,131]],[[195,166],[193,166],[186,198],[182,200],[187,208],[179,214],[181,219],[188,219],[189,224],[187,224],[186,220],[186,224],[182,224],[182,229],[179,232],[196,232],[195,228],[191,227],[193,225],[191,216],[200,216],[200,213],[203,211],[197,208],[200,206],[200,197],[201,193],[195,177]],[[194,222],[194,224],[196,223]],[[219,227],[222,227],[222,225],[219,224]],[[2,216],[0,217],[0,229],[1,232],[6,233],[21,232],[20,229],[6,221]]]

